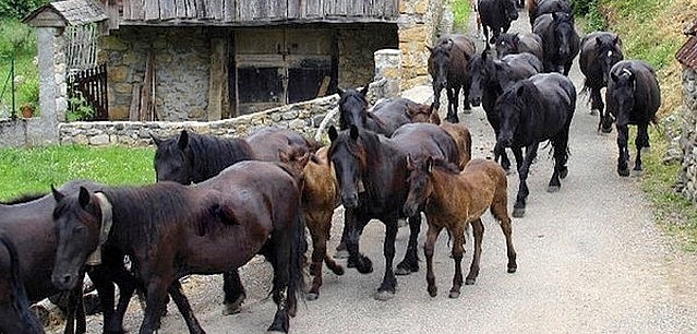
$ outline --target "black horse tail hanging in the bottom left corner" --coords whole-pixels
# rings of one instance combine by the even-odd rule
[[[14,302],[11,308],[19,320],[15,325],[23,329],[23,333],[44,333],[44,327],[29,312],[29,298],[24,289],[24,283],[20,279],[20,257],[16,246],[4,231],[0,231],[0,243],[8,250],[10,257],[10,284],[14,293]]]

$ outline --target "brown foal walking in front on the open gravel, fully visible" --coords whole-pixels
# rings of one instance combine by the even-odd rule
[[[453,236],[453,259],[455,276],[450,298],[457,298],[462,285],[461,260],[464,253],[465,231],[468,224],[474,230],[474,255],[466,284],[473,284],[479,274],[481,242],[484,226],[481,216],[491,208],[491,213],[500,220],[506,237],[508,272],[517,269],[508,216],[507,180],[503,168],[492,160],[476,158],[469,162],[461,172],[454,165],[431,157],[407,160],[411,170],[409,198],[405,204],[419,206],[425,203],[425,215],[429,222],[424,253],[426,258],[426,282],[431,297],[435,297],[435,275],[433,273],[433,249],[438,234],[447,228]],[[419,189],[421,188],[421,189]]]

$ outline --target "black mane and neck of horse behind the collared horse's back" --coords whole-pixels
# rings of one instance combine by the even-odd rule
[[[230,165],[254,158],[252,147],[242,139],[189,134],[189,155],[193,166],[193,181],[200,182]]]

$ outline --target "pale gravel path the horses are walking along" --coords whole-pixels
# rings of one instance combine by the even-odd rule
[[[514,31],[528,31],[527,15]],[[479,49],[481,50],[481,40]],[[582,75],[570,73],[580,92]],[[423,92],[412,97],[423,100]],[[586,96],[579,96],[572,126],[569,174],[557,193],[546,193],[552,160],[540,150],[529,176],[530,196],[524,218],[514,218],[518,272],[505,270],[505,243],[491,216],[483,218],[484,250],[479,279],[462,288],[459,299],[448,299],[453,261],[447,237],[436,247],[435,273],[440,295],[425,290],[425,263],[421,271],[398,277],[389,301],[376,301],[384,270],[383,225],[371,223],[361,240],[375,271],[361,275],[349,270],[338,277],[325,274],[319,300],[307,301],[291,320],[295,333],[695,333],[697,332],[697,259],[675,250],[654,226],[651,204],[637,178],[615,172],[615,132],[596,133],[597,117],[589,115]],[[443,106],[447,106],[445,102]],[[460,120],[474,134],[474,156],[490,156],[494,136],[483,110],[476,108]],[[633,141],[632,141],[633,142]],[[509,206],[518,178],[509,176]],[[343,211],[335,214],[332,249],[338,242]],[[425,230],[425,226],[422,228]],[[404,255],[408,229],[399,230],[397,257]],[[420,238],[423,244],[423,236]],[[471,244],[471,243],[470,243]],[[468,244],[469,246],[469,244]],[[466,254],[469,261],[471,251]],[[423,259],[422,251],[419,252]],[[469,262],[466,262],[469,263]],[[468,267],[468,265],[465,265]],[[202,325],[208,333],[262,333],[271,323],[274,303],[266,297],[268,265],[255,261],[242,271],[249,299],[240,314],[220,315],[218,276],[194,277],[185,284]],[[173,305],[160,333],[185,333]],[[137,331],[142,313],[136,302],[127,329]],[[98,332],[100,317],[89,320]]]

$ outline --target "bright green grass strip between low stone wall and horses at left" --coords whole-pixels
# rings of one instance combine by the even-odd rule
[[[83,145],[0,148],[0,200],[46,193],[50,186],[89,179],[110,186],[155,181],[153,148]]]

